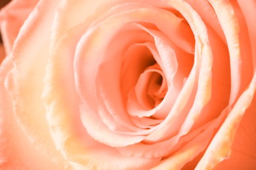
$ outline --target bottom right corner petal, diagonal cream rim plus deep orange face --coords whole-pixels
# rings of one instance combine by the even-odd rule
[[[217,135],[215,135],[213,141],[211,141],[211,144],[207,148],[202,160],[200,160],[200,163],[198,163],[196,169],[212,169],[219,163],[220,161],[223,161],[224,159],[228,158],[230,156],[231,148],[233,141],[236,136],[236,131],[238,131],[238,127],[240,125],[240,122],[242,121],[245,114],[248,114],[248,117],[255,118],[255,105],[252,103],[255,101],[255,90],[256,90],[256,74],[253,77],[253,80],[251,81],[251,84],[249,85],[249,88],[245,90],[245,92],[241,95],[241,97],[238,99],[236,104],[234,105],[234,108],[231,110],[230,114],[224,121],[223,125],[217,132]],[[253,100],[254,98],[254,100]],[[252,107],[250,105],[252,104]],[[245,112],[247,110],[247,112]],[[246,121],[247,118],[245,117],[244,120]],[[248,121],[248,120],[247,120]],[[250,126],[247,126],[244,130],[245,133],[248,130],[252,133],[255,133],[255,127],[252,125],[252,123],[249,123]],[[244,124],[242,124],[240,127],[243,127]],[[240,129],[240,131],[243,129]],[[238,133],[238,136],[241,135],[241,132]],[[236,140],[239,140],[236,138]],[[251,144],[253,141],[255,141],[255,136],[251,137]],[[245,141],[248,142],[248,141]],[[236,141],[236,144],[239,143],[239,141]],[[234,148],[238,148],[239,150],[235,150],[234,152],[234,160],[236,160],[237,153],[240,152],[240,155],[244,157],[243,154],[247,154],[246,158],[249,160],[245,160],[250,163],[248,167],[254,167],[255,168],[255,146],[253,144],[248,146],[246,150],[243,150],[245,147],[238,145],[234,145]],[[240,150],[241,149],[241,150]],[[241,152],[242,151],[242,152]],[[249,154],[248,154],[249,153]],[[233,161],[234,161],[233,160]],[[254,165],[253,165],[254,164]]]

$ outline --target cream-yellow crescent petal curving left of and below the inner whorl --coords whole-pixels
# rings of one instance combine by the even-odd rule
[[[160,158],[144,159],[120,156],[114,148],[98,143],[87,134],[85,129],[80,128],[81,120],[77,119],[79,118],[77,115],[79,113],[79,101],[77,101],[79,97],[75,89],[75,80],[70,80],[74,79],[73,56],[83,28],[83,25],[77,25],[62,37],[58,46],[54,48],[53,56],[49,58],[47,65],[43,99],[46,103],[47,119],[51,124],[56,144],[60,146],[62,154],[75,168],[140,169],[156,165]],[[88,110],[85,112],[86,115],[89,115]],[[92,128],[95,126],[96,124],[91,125]]]

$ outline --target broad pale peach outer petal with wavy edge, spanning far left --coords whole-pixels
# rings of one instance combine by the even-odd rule
[[[49,158],[64,166],[65,161],[49,133],[41,100],[51,25],[57,5],[58,1],[40,1],[20,29],[12,50],[14,68],[7,76],[6,85],[12,97],[14,114],[30,141]]]

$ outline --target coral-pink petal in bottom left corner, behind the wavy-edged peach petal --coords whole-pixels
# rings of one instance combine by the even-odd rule
[[[16,122],[11,97],[3,85],[11,68],[9,58],[0,69],[0,169],[63,169],[37,150]]]

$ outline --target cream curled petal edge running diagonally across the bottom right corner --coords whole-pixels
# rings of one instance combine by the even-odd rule
[[[239,97],[230,114],[223,125],[209,144],[202,160],[198,163],[196,169],[213,169],[217,163],[227,159],[230,156],[232,143],[236,135],[237,128],[244,116],[245,110],[254,103],[251,103],[256,90],[256,73],[253,76],[251,84]]]

